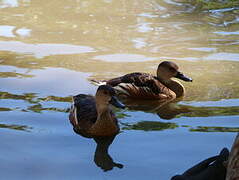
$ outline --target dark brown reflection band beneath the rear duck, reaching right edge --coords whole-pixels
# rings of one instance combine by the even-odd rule
[[[178,100],[179,101],[179,100]],[[180,104],[180,102],[139,101],[133,99],[122,100],[131,111],[144,111],[157,114],[161,119],[179,117],[210,117],[239,115],[238,106],[194,106]],[[183,102],[183,101],[182,101]],[[215,101],[217,102],[217,101]],[[203,104],[207,104],[204,102]]]

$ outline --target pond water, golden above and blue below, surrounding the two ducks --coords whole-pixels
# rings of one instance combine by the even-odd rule
[[[0,0],[1,177],[168,180],[230,148],[239,131],[238,30],[238,8]],[[73,132],[71,96],[93,95],[89,79],[155,73],[162,60],[194,79],[183,82],[181,101],[116,109],[122,132],[109,154]]]

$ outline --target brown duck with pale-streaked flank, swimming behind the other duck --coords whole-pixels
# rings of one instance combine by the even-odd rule
[[[192,82],[192,78],[179,71],[172,61],[163,61],[158,65],[157,75],[133,72],[110,80],[91,80],[94,84],[112,86],[117,95],[133,99],[174,100],[185,94],[184,86],[172,78]]]

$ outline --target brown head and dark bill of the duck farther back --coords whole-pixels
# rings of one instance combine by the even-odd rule
[[[178,69],[179,67],[176,63],[171,61],[163,61],[158,65],[157,77],[164,82],[167,82],[172,77],[175,77],[187,82],[193,81],[191,78],[185,76]]]

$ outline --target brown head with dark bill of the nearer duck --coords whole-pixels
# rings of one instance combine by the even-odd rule
[[[115,107],[124,109],[125,106],[115,97],[115,95],[115,90],[111,86],[99,86],[95,95],[97,106],[101,109],[108,109],[108,106],[112,104]]]

